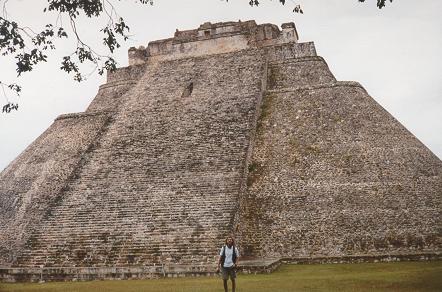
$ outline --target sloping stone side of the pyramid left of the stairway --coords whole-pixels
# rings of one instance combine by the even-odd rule
[[[41,227],[108,120],[103,114],[60,116],[1,173],[1,265],[11,264]]]

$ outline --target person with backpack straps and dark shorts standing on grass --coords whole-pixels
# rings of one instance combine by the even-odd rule
[[[235,241],[233,237],[229,236],[226,238],[226,243],[221,247],[218,259],[218,271],[221,270],[221,275],[223,277],[224,291],[228,292],[227,281],[232,281],[232,292],[236,289],[236,267],[238,266],[239,252],[235,246]]]

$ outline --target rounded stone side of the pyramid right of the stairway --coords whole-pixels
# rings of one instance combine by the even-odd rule
[[[244,254],[440,252],[442,162],[359,84],[323,69],[284,62],[290,77],[264,98],[241,200]],[[329,83],[303,86],[317,81]]]

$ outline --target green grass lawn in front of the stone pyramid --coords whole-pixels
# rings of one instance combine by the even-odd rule
[[[442,262],[285,265],[266,275],[239,275],[238,292],[442,291]],[[0,284],[0,291],[223,292],[219,278]],[[229,282],[229,291],[230,282]]]

